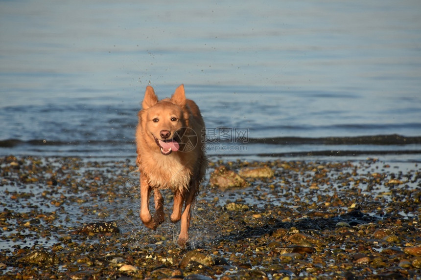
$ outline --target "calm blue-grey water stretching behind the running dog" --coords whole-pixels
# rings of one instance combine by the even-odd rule
[[[0,154],[131,157],[145,86],[184,83],[207,127],[232,133],[211,155],[420,161],[420,141],[311,140],[421,136],[420,18],[417,0],[0,1]]]

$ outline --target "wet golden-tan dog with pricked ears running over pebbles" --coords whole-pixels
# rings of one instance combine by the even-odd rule
[[[188,239],[190,212],[199,191],[208,161],[204,152],[205,123],[199,107],[186,99],[184,85],[171,98],[158,100],[152,86],[147,86],[138,113],[136,128],[137,160],[140,171],[140,219],[152,229],[164,222],[164,198],[160,190],[174,193],[170,219],[181,219],[178,244]],[[149,196],[154,194],[155,215],[149,212]],[[182,213],[183,204],[185,204]]]

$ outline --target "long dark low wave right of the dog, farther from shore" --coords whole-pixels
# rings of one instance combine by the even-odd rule
[[[369,135],[355,137],[269,137],[249,138],[251,144],[272,145],[412,145],[421,144],[421,136]]]

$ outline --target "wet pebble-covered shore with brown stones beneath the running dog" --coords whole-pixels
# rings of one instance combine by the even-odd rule
[[[420,279],[416,163],[214,160],[186,248],[133,164],[0,158],[0,279]]]

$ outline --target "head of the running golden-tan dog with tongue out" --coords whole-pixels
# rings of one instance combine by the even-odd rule
[[[140,123],[144,136],[148,137],[150,145],[159,148],[162,154],[169,155],[179,151],[181,139],[180,130],[188,125],[184,86],[179,86],[171,98],[158,101],[152,86],[147,86],[139,112]]]

